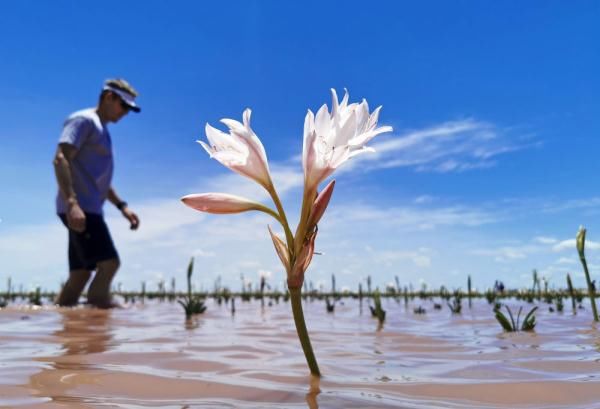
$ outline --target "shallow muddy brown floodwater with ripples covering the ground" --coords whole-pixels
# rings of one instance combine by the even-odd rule
[[[384,299],[334,313],[304,303],[323,377],[308,374],[289,303],[208,309],[0,310],[2,408],[600,408],[600,330],[589,307],[550,313],[508,334],[484,300],[452,315],[432,301]],[[531,306],[518,301],[509,305]],[[425,315],[413,308],[422,305]]]

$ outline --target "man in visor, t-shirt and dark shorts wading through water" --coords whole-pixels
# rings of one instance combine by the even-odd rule
[[[61,306],[77,305],[94,270],[88,303],[99,308],[114,306],[110,283],[119,268],[119,255],[104,222],[102,206],[108,199],[132,230],[139,227],[140,221],[111,186],[113,154],[107,126],[129,111],[140,112],[136,96],[127,81],[107,80],[96,108],[77,111],[65,121],[54,157],[56,212],[69,231],[69,279],[56,300]]]

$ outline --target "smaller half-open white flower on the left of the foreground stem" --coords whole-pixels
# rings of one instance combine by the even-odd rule
[[[244,111],[243,124],[233,119],[221,119],[221,122],[229,128],[228,134],[207,123],[205,130],[210,145],[203,141],[198,143],[211,158],[270,190],[273,182],[269,173],[267,154],[260,139],[250,127],[251,114],[249,108]]]

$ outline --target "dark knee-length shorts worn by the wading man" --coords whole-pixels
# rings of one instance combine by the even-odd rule
[[[67,217],[59,214],[65,227]],[[69,229],[69,270],[95,270],[100,261],[119,258],[104,217],[99,214],[85,214],[85,230],[78,233]]]

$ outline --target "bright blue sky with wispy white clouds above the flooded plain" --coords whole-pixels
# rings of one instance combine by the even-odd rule
[[[227,191],[267,200],[195,143],[204,124],[241,119],[266,147],[291,219],[301,197],[307,109],[330,88],[383,105],[377,153],[335,174],[307,279],[356,288],[495,279],[583,286],[573,239],[588,228],[600,274],[600,4],[578,2],[6,3],[0,14],[0,288],[57,288],[66,232],[51,159],[64,118],[121,76],[140,115],[111,125],[114,186],[141,218],[106,216],[126,288],[283,273],[262,215],[203,215],[179,198]],[[365,155],[366,156],[366,155]],[[267,202],[268,203],[268,202]]]

